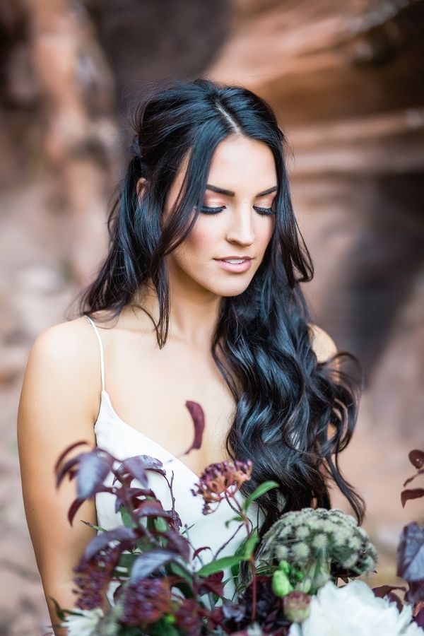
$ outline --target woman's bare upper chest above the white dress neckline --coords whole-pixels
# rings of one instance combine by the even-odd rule
[[[120,419],[180,457],[197,475],[208,464],[228,459],[225,439],[235,400],[212,356],[170,346],[120,347],[110,353],[107,392]],[[200,404],[204,435],[200,449],[182,454],[194,439],[186,401]]]

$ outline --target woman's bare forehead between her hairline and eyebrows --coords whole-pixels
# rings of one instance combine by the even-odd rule
[[[277,184],[276,165],[269,146],[257,139],[231,135],[213,153],[208,183],[237,192],[260,192]]]

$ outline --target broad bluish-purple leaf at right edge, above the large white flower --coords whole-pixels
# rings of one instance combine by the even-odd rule
[[[424,529],[416,522],[407,524],[401,532],[396,573],[408,582],[423,579]]]

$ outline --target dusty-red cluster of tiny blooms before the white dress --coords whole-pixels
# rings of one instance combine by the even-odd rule
[[[219,503],[226,496],[232,497],[242,483],[249,481],[252,476],[252,461],[222,461],[210,464],[194,484],[193,495],[201,495],[204,498],[203,513],[212,512],[210,505]],[[216,510],[216,508],[214,509]]]

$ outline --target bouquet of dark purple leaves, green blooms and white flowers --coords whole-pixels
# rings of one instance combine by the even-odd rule
[[[199,448],[203,411],[194,402],[186,406],[194,421],[191,448]],[[237,526],[234,534],[245,529],[245,536],[233,555],[218,558],[218,550],[203,563],[204,548],[194,549],[181,531],[173,474],[168,478],[153,457],[121,461],[99,447],[65,460],[85,443],[73,444],[57,461],[58,486],[66,475],[76,479],[69,522],[83,501],[107,492],[115,497],[122,525],[106,531],[88,524],[98,534],[75,569],[76,607],[61,608],[53,599],[58,626],[66,627],[69,636],[424,635],[424,530],[418,524],[404,528],[399,545],[398,574],[409,585],[403,604],[396,587],[372,590],[361,580],[350,580],[374,570],[377,554],[365,531],[341,510],[286,512],[260,538],[247,512],[278,484],[262,483],[241,502],[236,495],[251,478],[252,463],[224,461],[206,468],[191,495],[203,498],[204,514],[213,515],[224,499],[230,502],[235,515],[226,525]],[[424,453],[413,451],[410,459],[417,474],[423,473]],[[170,488],[170,510],[149,486],[151,471]],[[113,483],[105,485],[110,472]],[[404,490],[402,502],[423,494],[422,489]],[[230,580],[235,589],[231,599],[225,589]],[[116,586],[114,603],[105,608],[110,584]]]

